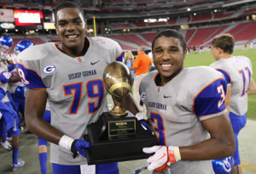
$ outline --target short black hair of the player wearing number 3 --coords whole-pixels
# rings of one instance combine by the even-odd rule
[[[179,39],[179,41],[181,42],[182,48],[183,48],[183,52],[187,49],[187,43],[185,41],[185,38],[183,37],[183,35],[175,30],[172,29],[167,29],[164,31],[160,31],[156,36],[154,36],[154,40],[152,42],[152,50],[154,49],[154,42],[156,39],[158,39],[160,36],[166,36],[166,37],[175,37],[177,39]]]

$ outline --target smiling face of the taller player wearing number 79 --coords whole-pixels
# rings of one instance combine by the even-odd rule
[[[56,14],[55,29],[61,38],[64,53],[70,56],[83,55],[86,20],[78,8],[60,9]]]

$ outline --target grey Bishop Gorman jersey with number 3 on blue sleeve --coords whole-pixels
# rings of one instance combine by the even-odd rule
[[[201,121],[223,115],[226,81],[207,66],[183,69],[165,86],[157,86],[157,70],[140,85],[147,116],[161,145],[191,146],[209,138]],[[177,161],[170,166],[175,173],[213,173],[211,160]]]

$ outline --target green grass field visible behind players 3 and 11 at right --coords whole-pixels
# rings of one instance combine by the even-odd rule
[[[244,55],[251,59],[253,63],[253,80],[256,81],[256,49],[235,50],[233,55]],[[189,53],[184,61],[184,66],[211,65],[214,62],[210,51],[205,51],[201,54]],[[256,95],[248,97],[247,118],[256,120]]]

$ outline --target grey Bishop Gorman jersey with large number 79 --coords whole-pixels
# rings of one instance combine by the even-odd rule
[[[61,42],[26,48],[18,56],[18,71],[31,89],[46,89],[51,109],[51,125],[75,139],[87,134],[88,124],[108,111],[105,67],[120,59],[122,49],[105,37],[85,38],[90,45],[84,56],[70,57],[61,52]],[[61,165],[86,164],[84,157],[51,143],[50,161]]]

